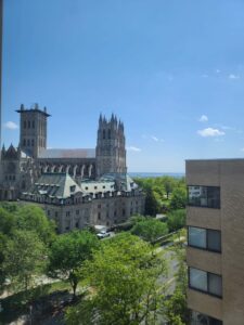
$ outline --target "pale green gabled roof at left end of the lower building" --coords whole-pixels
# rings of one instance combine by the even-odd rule
[[[80,192],[80,186],[68,173],[43,173],[27,193],[67,198]]]

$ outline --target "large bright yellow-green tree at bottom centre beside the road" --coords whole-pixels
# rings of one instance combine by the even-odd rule
[[[166,263],[139,237],[121,233],[104,240],[86,263],[92,294],[68,309],[67,324],[153,324],[160,297],[156,281],[165,272]]]

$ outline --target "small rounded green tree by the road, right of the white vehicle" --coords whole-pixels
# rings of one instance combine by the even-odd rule
[[[157,219],[147,218],[137,222],[132,227],[131,233],[152,243],[158,237],[166,235],[168,233],[168,227],[166,223]]]

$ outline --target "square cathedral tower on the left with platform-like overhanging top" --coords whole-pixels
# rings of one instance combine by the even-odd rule
[[[39,109],[38,104],[34,108],[16,110],[21,114],[20,147],[27,155],[37,158],[42,150],[47,148],[47,118],[50,116],[44,107]]]

